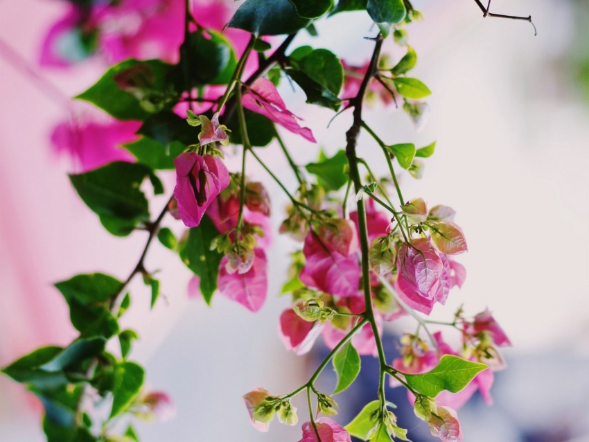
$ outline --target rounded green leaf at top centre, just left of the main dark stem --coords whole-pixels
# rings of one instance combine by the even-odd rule
[[[303,57],[300,54],[300,51],[291,54],[291,57],[296,57],[293,59],[294,67],[306,73],[311,80],[322,85],[337,98],[344,84],[344,68],[340,59],[327,49],[315,49]]]

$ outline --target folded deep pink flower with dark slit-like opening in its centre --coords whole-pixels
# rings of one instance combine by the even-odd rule
[[[211,155],[179,154],[174,197],[186,227],[197,227],[204,212],[219,193],[229,186],[229,172],[223,162]]]

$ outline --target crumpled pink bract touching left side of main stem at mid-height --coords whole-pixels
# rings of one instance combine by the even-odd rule
[[[360,264],[355,254],[341,254],[313,231],[305,238],[303,253],[306,263],[299,278],[304,284],[335,296],[359,296]]]

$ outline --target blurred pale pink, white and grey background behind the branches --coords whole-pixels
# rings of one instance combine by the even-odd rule
[[[403,193],[452,206],[469,252],[459,257],[466,283],[432,318],[451,319],[462,303],[470,315],[489,307],[513,343],[504,351],[508,369],[498,373],[492,390],[495,404],[487,407],[475,397],[460,410],[464,440],[589,441],[589,2],[493,1],[495,12],[531,14],[536,37],[525,21],[482,19],[474,1],[416,0],[414,6],[425,15],[408,30],[419,56],[414,76],[433,91],[428,124],[416,133],[403,112],[378,104],[366,119],[389,143],[437,141],[423,179],[401,177]],[[141,232],[109,236],[69,184],[67,173],[76,171],[76,163],[51,147],[53,127],[67,121],[72,108],[85,112],[85,105],[67,97],[93,84],[106,66],[100,57],[67,69],[39,65],[44,36],[65,10],[59,0],[0,1],[2,366],[37,346],[76,337],[55,281],[95,271],[124,278],[145,240]],[[330,48],[352,64],[368,60],[372,44],[362,37],[375,31],[365,14],[337,15],[317,28],[320,39],[301,35],[292,47]],[[350,114],[326,130],[331,112],[304,105],[286,83],[281,94],[326,152],[344,147]],[[290,135],[283,137],[296,161],[315,160],[317,148]],[[362,136],[359,148],[368,161],[374,158],[375,171],[385,173],[368,137]],[[260,152],[276,170],[285,170],[276,145]],[[238,157],[228,157],[231,169]],[[256,164],[248,170],[270,189],[276,230],[285,197]],[[284,175],[294,188],[294,177]],[[174,177],[164,180],[171,190]],[[155,199],[152,212],[163,204]],[[168,225],[178,231],[172,221]],[[171,251],[152,247],[148,264],[162,269],[165,300],[149,312],[147,289],[135,281],[134,306],[123,321],[141,336],[132,357],[146,364],[152,388],[170,393],[177,416],[137,425],[141,441],[300,439],[300,426],[273,423],[269,433],[256,432],[240,398],[258,385],[274,394],[292,391],[326,354],[317,344],[297,357],[277,334],[278,316],[289,304],[278,294],[293,247],[274,237],[268,299],[255,315],[220,297],[212,308],[189,299],[188,269]],[[405,327],[414,325],[407,319],[386,330],[389,357]],[[340,400],[341,423],[376,396],[374,361],[363,364],[362,378]],[[327,391],[334,384],[327,369],[322,385]],[[405,394],[393,394],[407,435],[432,440],[424,425],[411,420]],[[306,421],[303,405],[297,405],[300,421]],[[0,378],[2,441],[43,441],[41,412],[32,395]]]

